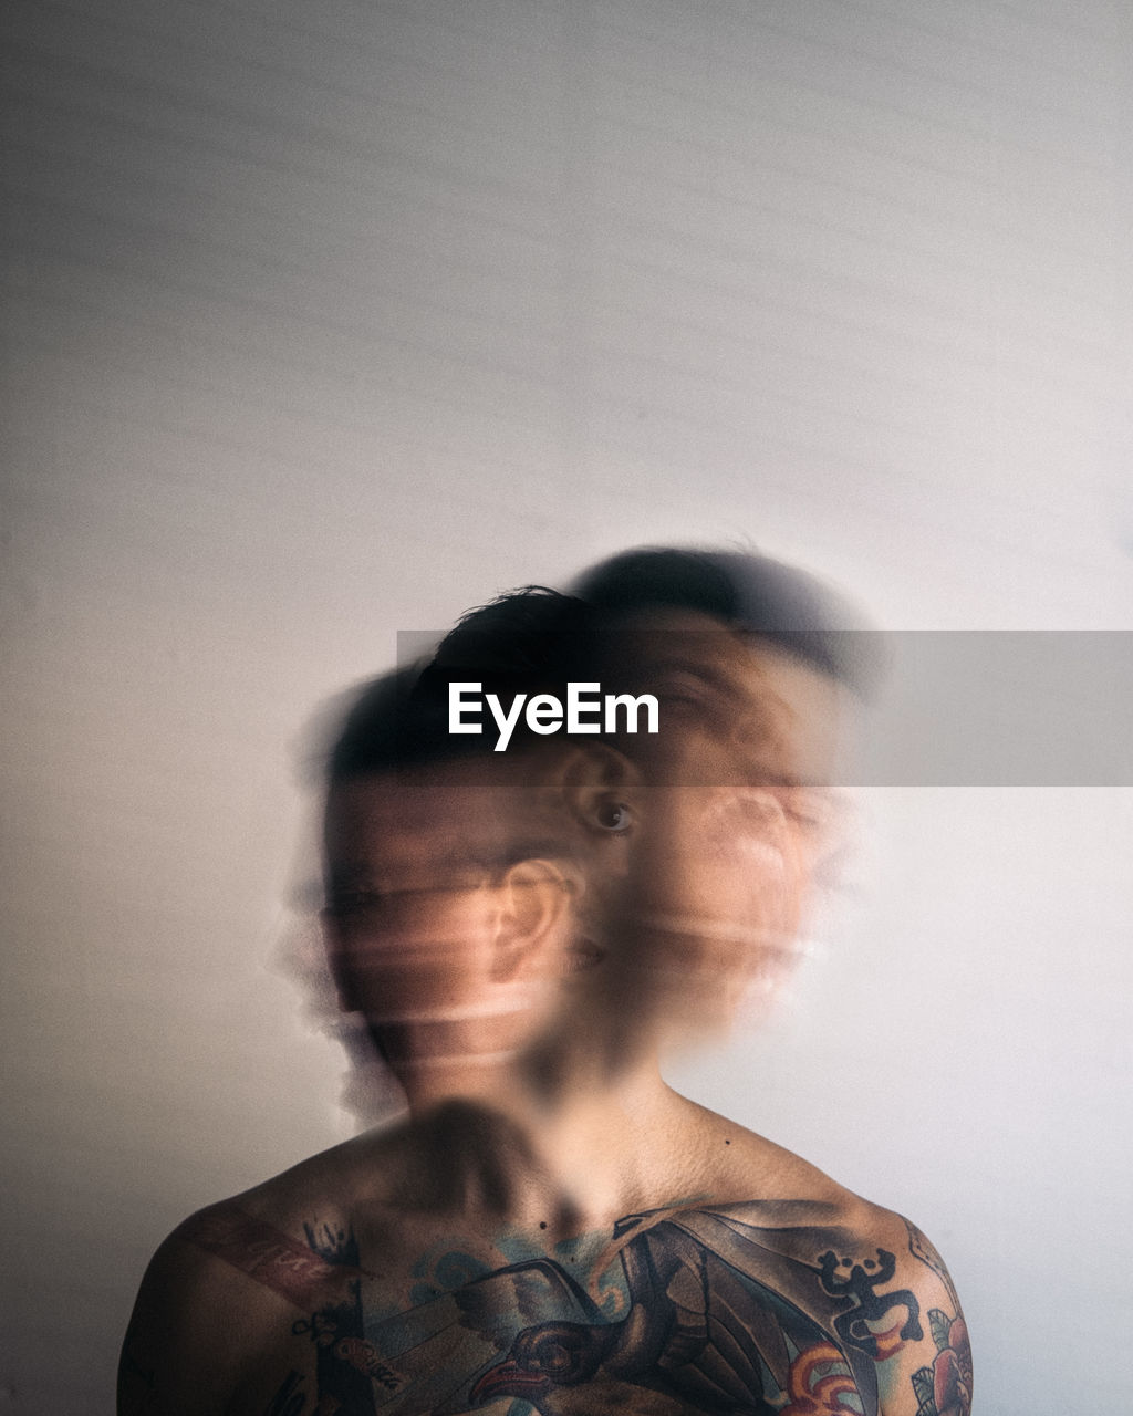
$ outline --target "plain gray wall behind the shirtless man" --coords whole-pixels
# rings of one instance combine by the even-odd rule
[[[348,1133],[293,758],[399,629],[751,538],[901,629],[1133,629],[1122,0],[8,0],[0,1410]],[[695,1095],[913,1215],[979,1405],[1127,1393],[1133,793],[862,794]],[[1117,1341],[1115,1342],[1115,1335]]]

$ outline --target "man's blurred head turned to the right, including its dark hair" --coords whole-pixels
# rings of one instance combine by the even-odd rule
[[[868,690],[877,646],[823,585],[758,555],[629,551],[576,593],[603,624],[603,678],[654,694],[661,719],[616,742],[642,790],[610,987],[697,1034],[739,995],[773,994],[797,959],[837,843],[844,700]]]

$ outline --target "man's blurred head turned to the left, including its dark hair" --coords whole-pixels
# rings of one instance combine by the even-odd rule
[[[527,590],[367,685],[329,755],[326,940],[343,1005],[411,1089],[474,1089],[547,1027],[596,946],[603,749],[448,731],[448,685],[554,690],[586,607]]]

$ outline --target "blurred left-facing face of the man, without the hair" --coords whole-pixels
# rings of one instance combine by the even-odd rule
[[[327,947],[344,1005],[402,1080],[500,1062],[554,1001],[565,929],[525,947],[527,903],[500,884],[518,810],[513,789],[462,783],[459,767],[330,793]]]

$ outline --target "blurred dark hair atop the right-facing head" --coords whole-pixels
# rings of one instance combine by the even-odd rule
[[[600,561],[572,586],[603,619],[644,609],[698,610],[763,634],[860,694],[877,683],[879,636],[821,581],[770,556],[639,547]]]

